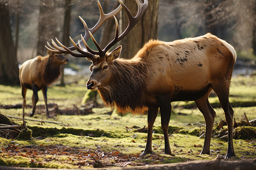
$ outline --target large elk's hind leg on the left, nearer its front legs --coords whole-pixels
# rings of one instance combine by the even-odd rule
[[[197,107],[203,113],[206,122],[204,146],[200,154],[210,154],[210,139],[212,138],[212,129],[214,124],[214,118],[216,116],[216,112],[213,110],[208,100],[210,91],[208,91],[207,94],[195,101]]]

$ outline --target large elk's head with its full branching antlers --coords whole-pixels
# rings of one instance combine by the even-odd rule
[[[93,28],[88,28],[85,21],[79,16],[81,19],[81,22],[84,24],[85,28],[85,35],[84,37],[81,35],[81,40],[75,43],[71,37],[69,39],[71,40],[73,46],[67,48],[59,40],[56,39],[57,43],[60,45],[58,46],[55,41],[51,41],[52,45],[51,46],[48,42],[48,46],[46,48],[48,50],[51,50],[51,52],[54,53],[69,53],[74,57],[86,57],[89,61],[92,61],[92,65],[90,66],[90,71],[92,71],[90,78],[88,82],[86,83],[86,87],[90,90],[98,90],[100,87],[104,87],[110,84],[110,79],[112,76],[112,69],[113,69],[113,62],[114,59],[117,59],[120,56],[122,46],[118,46],[118,48],[115,48],[112,52],[108,52],[108,50],[115,45],[118,41],[123,39],[127,35],[127,33],[131,30],[131,28],[134,27],[135,24],[138,23],[139,19],[142,18],[142,15],[147,9],[148,6],[148,1],[144,0],[142,2],[141,0],[135,0],[138,5],[138,12],[136,16],[133,16],[130,12],[130,10],[125,6],[125,4],[121,1],[118,0],[120,5],[115,8],[112,12],[109,12],[108,14],[105,14],[104,11],[102,10],[101,4],[98,1],[98,8],[100,10],[100,19],[94,25]],[[119,27],[118,27],[118,21],[117,18],[115,18],[115,15],[118,14],[118,12],[123,8],[125,10],[128,18],[129,18],[129,23],[127,25],[127,28],[125,31],[121,33],[121,35],[118,35]],[[93,33],[97,31],[98,28],[108,19],[114,18],[115,20],[115,37],[112,41],[109,42],[108,45],[105,46],[104,49],[101,49],[100,45],[98,45],[97,41],[93,37]],[[97,47],[97,51],[92,50],[89,48],[89,46],[86,44],[86,41],[89,38],[92,38],[92,41]],[[77,50],[77,52],[73,52],[73,50]]]

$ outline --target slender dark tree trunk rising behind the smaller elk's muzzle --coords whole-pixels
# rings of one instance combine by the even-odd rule
[[[63,44],[69,46],[69,32],[70,32],[70,21],[71,21],[71,1],[65,1],[65,14],[64,14],[64,26],[63,26]],[[60,86],[65,86],[64,82],[64,69],[65,65],[61,65],[61,76],[60,76]]]

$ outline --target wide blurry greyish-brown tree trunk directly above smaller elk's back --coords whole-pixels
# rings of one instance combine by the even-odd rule
[[[40,0],[39,3],[38,42],[36,54],[46,54],[46,42],[56,37],[55,3],[54,1]]]

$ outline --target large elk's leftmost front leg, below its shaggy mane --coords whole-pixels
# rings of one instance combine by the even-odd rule
[[[141,156],[150,154],[152,152],[152,130],[155,122],[155,118],[158,116],[158,108],[148,108],[147,113],[147,144],[145,150],[141,153]]]

